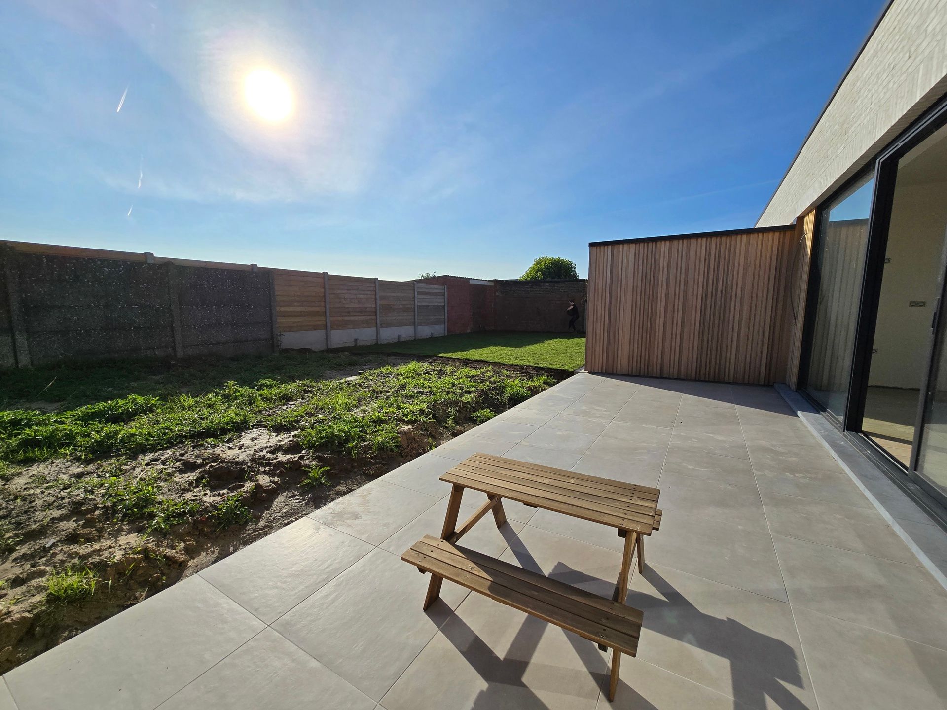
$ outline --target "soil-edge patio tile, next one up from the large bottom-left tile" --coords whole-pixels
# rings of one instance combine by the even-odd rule
[[[302,518],[198,574],[270,624],[371,550],[365,541]]]

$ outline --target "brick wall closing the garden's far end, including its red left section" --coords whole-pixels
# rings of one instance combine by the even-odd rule
[[[585,285],[583,278],[555,281],[493,281],[472,284],[469,278],[432,276],[423,283],[447,287],[447,332],[471,333],[483,330],[565,332],[569,299],[581,311],[579,329],[585,326]]]

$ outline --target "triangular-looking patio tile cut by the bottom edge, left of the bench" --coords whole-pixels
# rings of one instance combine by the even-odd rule
[[[265,629],[158,710],[296,710],[307,705],[372,710],[375,701]]]

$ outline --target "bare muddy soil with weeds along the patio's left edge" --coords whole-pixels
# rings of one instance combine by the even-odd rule
[[[407,360],[414,358],[390,363]],[[474,425],[468,421],[450,431],[437,422],[404,427],[401,451],[391,455],[306,452],[292,432],[258,428],[223,442],[129,459],[54,459],[6,470],[0,480],[0,673]],[[109,488],[116,481],[125,487],[121,496]],[[136,487],[146,482],[160,491],[159,502],[186,506],[188,519],[172,517],[155,527],[153,512],[134,508],[141,492]],[[221,514],[227,502],[239,507],[237,516]],[[64,569],[87,570],[94,593],[79,602],[51,598],[48,578]]]

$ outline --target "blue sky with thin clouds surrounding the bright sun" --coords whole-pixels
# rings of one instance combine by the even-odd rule
[[[756,222],[882,5],[12,0],[0,239],[585,275],[590,240]]]

